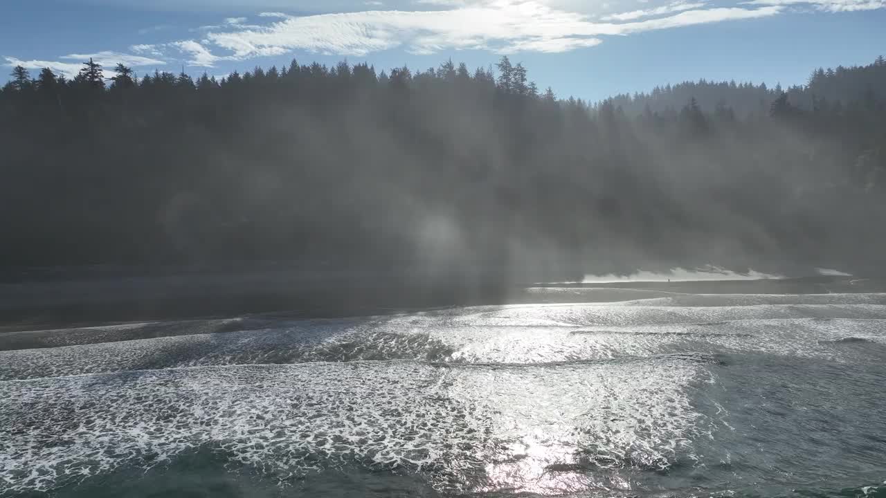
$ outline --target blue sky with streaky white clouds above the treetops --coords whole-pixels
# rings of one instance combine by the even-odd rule
[[[805,81],[886,54],[886,0],[2,0],[0,64],[71,74],[90,56],[213,75],[254,66],[474,68],[502,54],[590,100],[708,78]]]

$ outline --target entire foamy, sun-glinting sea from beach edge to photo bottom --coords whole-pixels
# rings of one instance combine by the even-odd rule
[[[657,292],[0,346],[4,496],[886,495],[886,294]]]

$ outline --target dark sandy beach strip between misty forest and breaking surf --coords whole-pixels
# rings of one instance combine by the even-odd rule
[[[273,313],[308,319],[434,307],[618,302],[672,293],[886,292],[886,280],[854,276],[593,284],[530,284],[488,277],[268,270],[4,283],[0,333]]]

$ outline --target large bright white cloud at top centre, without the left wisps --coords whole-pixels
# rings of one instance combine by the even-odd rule
[[[416,1],[450,3],[452,0]],[[468,6],[449,10],[287,16],[266,27],[213,31],[206,35],[206,39],[227,51],[225,57],[237,60],[294,50],[359,57],[397,47],[417,54],[444,50],[550,53],[596,45],[601,43],[601,35],[628,35],[729,19],[766,17],[781,9],[778,5],[756,9],[697,9],[700,6],[699,3],[676,3],[639,15],[628,13],[627,19],[682,11],[672,16],[638,22],[597,23],[586,15],[554,9],[537,0],[475,0]]]

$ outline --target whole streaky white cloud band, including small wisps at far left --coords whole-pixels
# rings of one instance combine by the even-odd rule
[[[183,54],[190,66],[214,67],[220,61],[278,56],[292,51],[313,51],[340,56],[365,56],[400,48],[414,54],[439,51],[485,50],[496,53],[574,51],[602,43],[606,36],[693,26],[734,19],[754,19],[782,12],[784,5],[820,4],[830,10],[860,9],[886,0],[750,0],[753,7],[703,8],[703,0],[677,0],[659,7],[610,14],[594,20],[567,8],[575,0],[409,0],[431,10],[367,10],[292,16],[260,12],[262,26],[245,24],[246,18],[224,19],[207,26],[198,40],[135,44],[132,53],[103,51],[71,54],[60,61],[19,61],[10,65],[51,67],[67,76],[76,74],[82,60],[94,58],[103,66],[161,66]],[[390,2],[389,2],[390,3]],[[552,4],[563,5],[555,8]],[[649,18],[649,19],[643,19]],[[641,19],[641,20],[638,20]],[[67,62],[76,59],[77,64]]]

